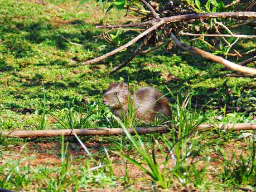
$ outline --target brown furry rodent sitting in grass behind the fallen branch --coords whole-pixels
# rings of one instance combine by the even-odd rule
[[[115,116],[122,118],[128,112],[129,103],[134,103],[136,117],[144,124],[154,122],[155,117],[170,117],[171,108],[162,93],[153,87],[143,87],[129,92],[127,83],[110,83],[110,87],[103,95],[103,103],[112,110]]]

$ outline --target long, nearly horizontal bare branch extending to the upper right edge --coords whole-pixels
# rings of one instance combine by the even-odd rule
[[[158,21],[164,21],[165,23],[186,21],[191,19],[207,19],[207,18],[249,18],[256,17],[256,12],[222,12],[222,13],[192,13],[192,14],[182,14],[178,16],[163,17],[160,19],[151,19],[149,21],[141,23],[131,23],[131,24],[116,24],[107,26],[96,26],[96,28],[120,28],[120,27],[139,27],[147,26],[149,24],[154,24]]]

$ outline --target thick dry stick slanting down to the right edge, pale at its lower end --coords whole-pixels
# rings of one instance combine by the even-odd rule
[[[251,68],[251,67],[245,67],[245,66],[240,66],[238,64],[235,64],[233,62],[230,62],[228,60],[225,60],[222,57],[213,55],[209,52],[203,51],[200,48],[197,47],[190,47],[184,43],[181,43],[176,37],[175,35],[171,34],[171,38],[172,41],[176,43],[177,46],[183,48],[186,51],[189,51],[195,55],[199,55],[201,57],[207,58],[209,60],[215,61],[220,63],[221,65],[230,68],[231,70],[235,70],[235,71],[239,71],[242,73],[248,73],[248,74],[252,74],[252,75],[256,75],[256,69],[255,68]]]

